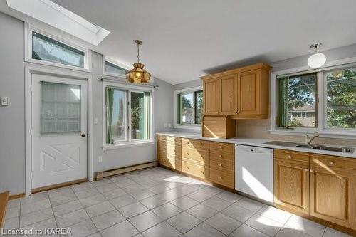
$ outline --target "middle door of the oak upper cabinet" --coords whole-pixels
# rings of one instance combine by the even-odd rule
[[[219,113],[221,115],[231,115],[237,111],[236,83],[237,75],[228,75],[221,77],[220,83],[220,105]]]

